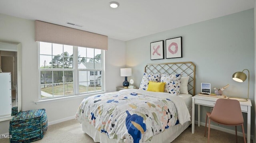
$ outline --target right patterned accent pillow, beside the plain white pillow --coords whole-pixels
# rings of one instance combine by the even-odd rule
[[[166,82],[164,92],[180,95],[181,74],[162,74],[160,82]]]

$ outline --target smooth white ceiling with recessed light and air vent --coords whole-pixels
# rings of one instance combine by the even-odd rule
[[[254,0],[116,0],[116,9],[111,1],[0,0],[0,13],[128,41],[254,8]]]

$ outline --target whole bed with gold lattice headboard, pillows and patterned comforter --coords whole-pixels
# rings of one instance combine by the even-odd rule
[[[170,143],[191,124],[195,69],[192,62],[148,64],[140,89],[85,98],[76,119],[95,142]]]

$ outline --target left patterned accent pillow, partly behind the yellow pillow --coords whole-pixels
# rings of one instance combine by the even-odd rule
[[[147,90],[149,81],[159,82],[160,77],[161,74],[147,74],[144,72],[139,89]]]

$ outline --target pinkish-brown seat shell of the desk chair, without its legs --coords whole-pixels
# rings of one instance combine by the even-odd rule
[[[219,98],[209,117],[212,121],[224,125],[239,125],[244,123],[238,100]]]

